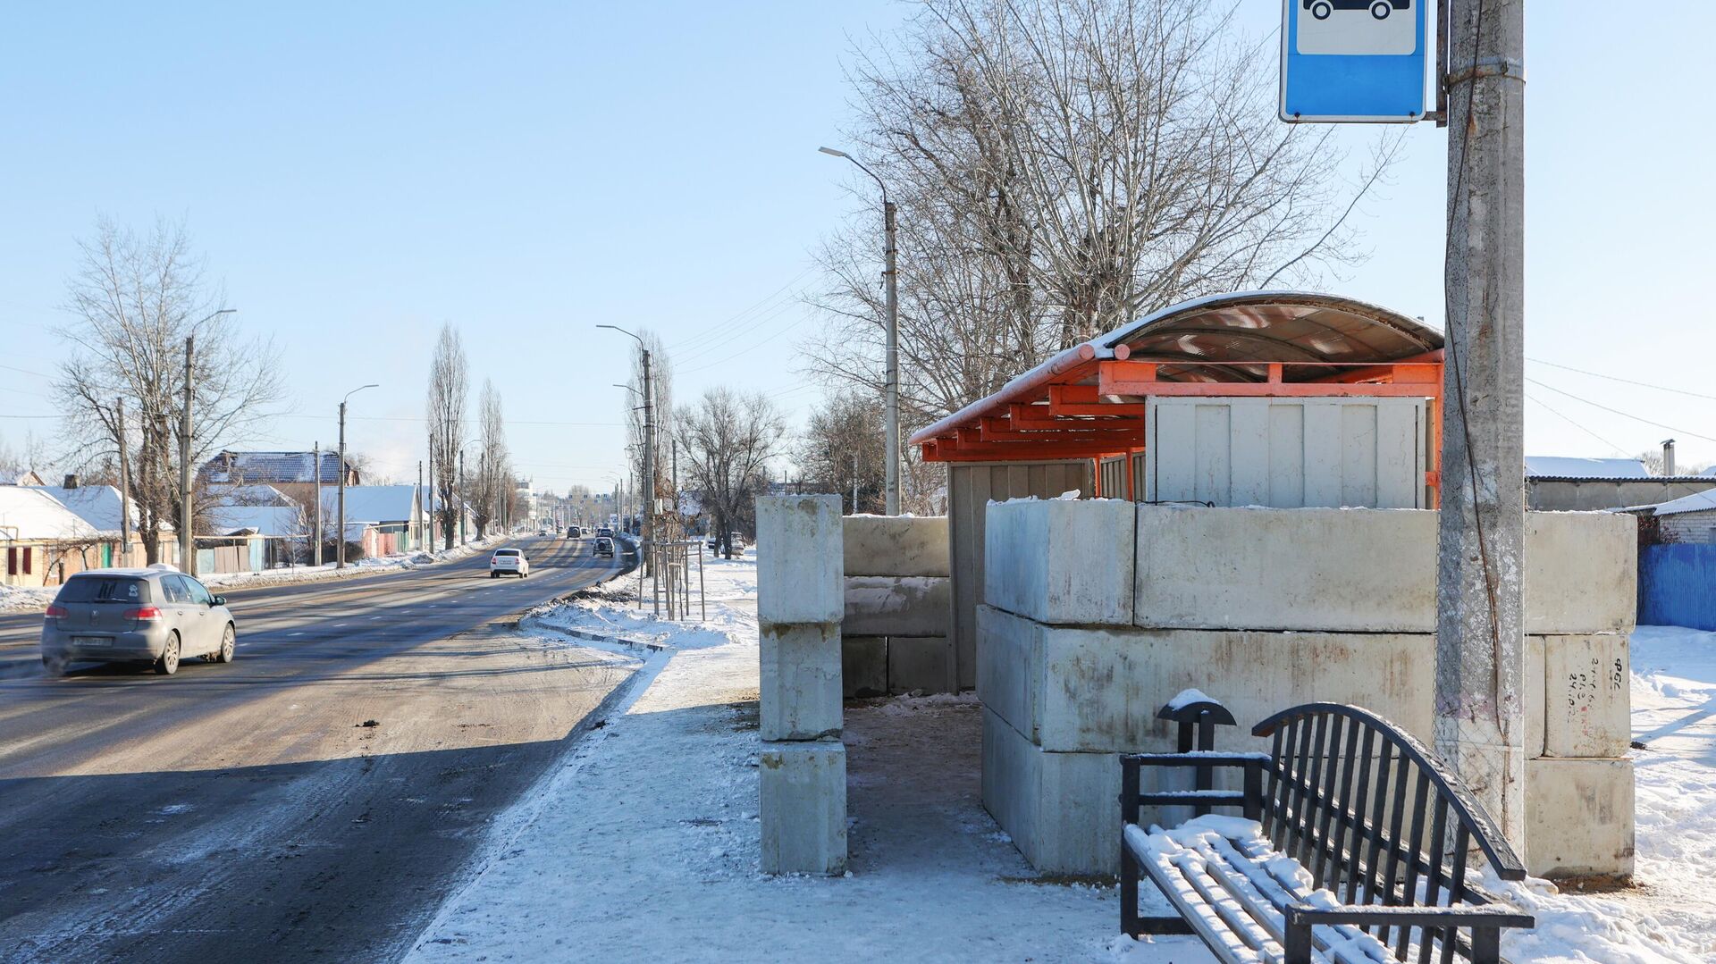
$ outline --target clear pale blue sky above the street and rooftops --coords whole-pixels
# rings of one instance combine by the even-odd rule
[[[1538,0],[1527,22],[1527,449],[1680,439],[1716,461],[1704,276],[1716,7]],[[1273,0],[1241,0],[1256,33]],[[96,214],[184,218],[292,400],[257,448],[335,436],[414,479],[434,329],[501,386],[539,487],[613,485],[630,340],[681,401],[769,389],[800,419],[810,250],[855,214],[815,153],[849,117],[843,57],[909,7],[841,3],[156,3],[0,12],[0,437],[53,434],[63,278]],[[1273,72],[1273,58],[1261,65]],[[1344,139],[1356,153],[1373,130]],[[1445,132],[1419,125],[1363,213],[1373,257],[1325,288],[1441,321]],[[34,372],[34,374],[31,374]],[[1568,393],[1568,395],[1563,395]],[[1623,412],[1604,412],[1596,405]],[[1632,415],[1632,417],[1628,417]],[[1656,427],[1634,417],[1659,422]],[[1707,437],[1699,437],[1699,434]]]

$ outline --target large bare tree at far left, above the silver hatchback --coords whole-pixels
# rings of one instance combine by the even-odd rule
[[[201,463],[221,446],[242,441],[283,398],[273,343],[244,338],[230,321],[211,317],[223,293],[204,281],[202,259],[190,252],[184,225],[158,221],[148,235],[96,223],[79,242],[77,273],[67,280],[60,329],[72,358],[60,365],[55,395],[81,465],[132,455],[130,497],[137,533],[149,563],[160,561],[163,527],[180,518],[180,412],[184,410],[185,338],[192,358],[190,460]],[[132,424],[122,436],[115,401],[124,398]],[[209,508],[206,487],[194,496],[194,516]]]

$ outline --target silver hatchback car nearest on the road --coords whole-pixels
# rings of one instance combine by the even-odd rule
[[[227,597],[163,569],[89,569],[65,580],[41,621],[41,664],[148,662],[168,676],[194,655],[232,662],[239,626]]]

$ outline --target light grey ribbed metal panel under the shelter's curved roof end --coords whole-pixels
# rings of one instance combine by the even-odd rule
[[[1151,398],[1145,501],[1424,508],[1421,398]]]

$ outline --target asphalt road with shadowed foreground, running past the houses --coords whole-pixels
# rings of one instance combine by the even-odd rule
[[[506,631],[614,569],[518,545],[525,580],[477,554],[228,592],[237,660],[170,678],[43,676],[41,618],[0,618],[0,961],[403,952],[635,666]]]

